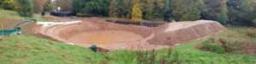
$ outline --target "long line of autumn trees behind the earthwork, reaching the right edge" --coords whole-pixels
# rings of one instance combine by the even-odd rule
[[[210,19],[221,24],[256,24],[255,0],[73,0],[73,12],[135,20]]]

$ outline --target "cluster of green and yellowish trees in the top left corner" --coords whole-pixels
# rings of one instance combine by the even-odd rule
[[[51,11],[51,0],[0,0],[0,8],[15,10],[22,17],[32,18],[34,13]]]

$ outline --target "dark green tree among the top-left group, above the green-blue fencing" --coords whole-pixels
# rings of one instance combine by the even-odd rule
[[[16,0],[19,3],[20,8],[18,8],[18,12],[20,16],[23,17],[33,17],[33,6],[30,0]]]

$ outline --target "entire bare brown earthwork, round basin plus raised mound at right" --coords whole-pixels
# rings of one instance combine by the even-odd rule
[[[97,45],[108,50],[155,50],[214,35],[225,29],[216,21],[198,20],[163,24],[148,28],[113,24],[89,18],[75,22],[38,23],[36,33],[72,45]]]

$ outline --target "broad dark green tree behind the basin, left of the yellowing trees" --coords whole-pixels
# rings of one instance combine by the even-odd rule
[[[109,0],[73,0],[73,13],[108,16]]]

